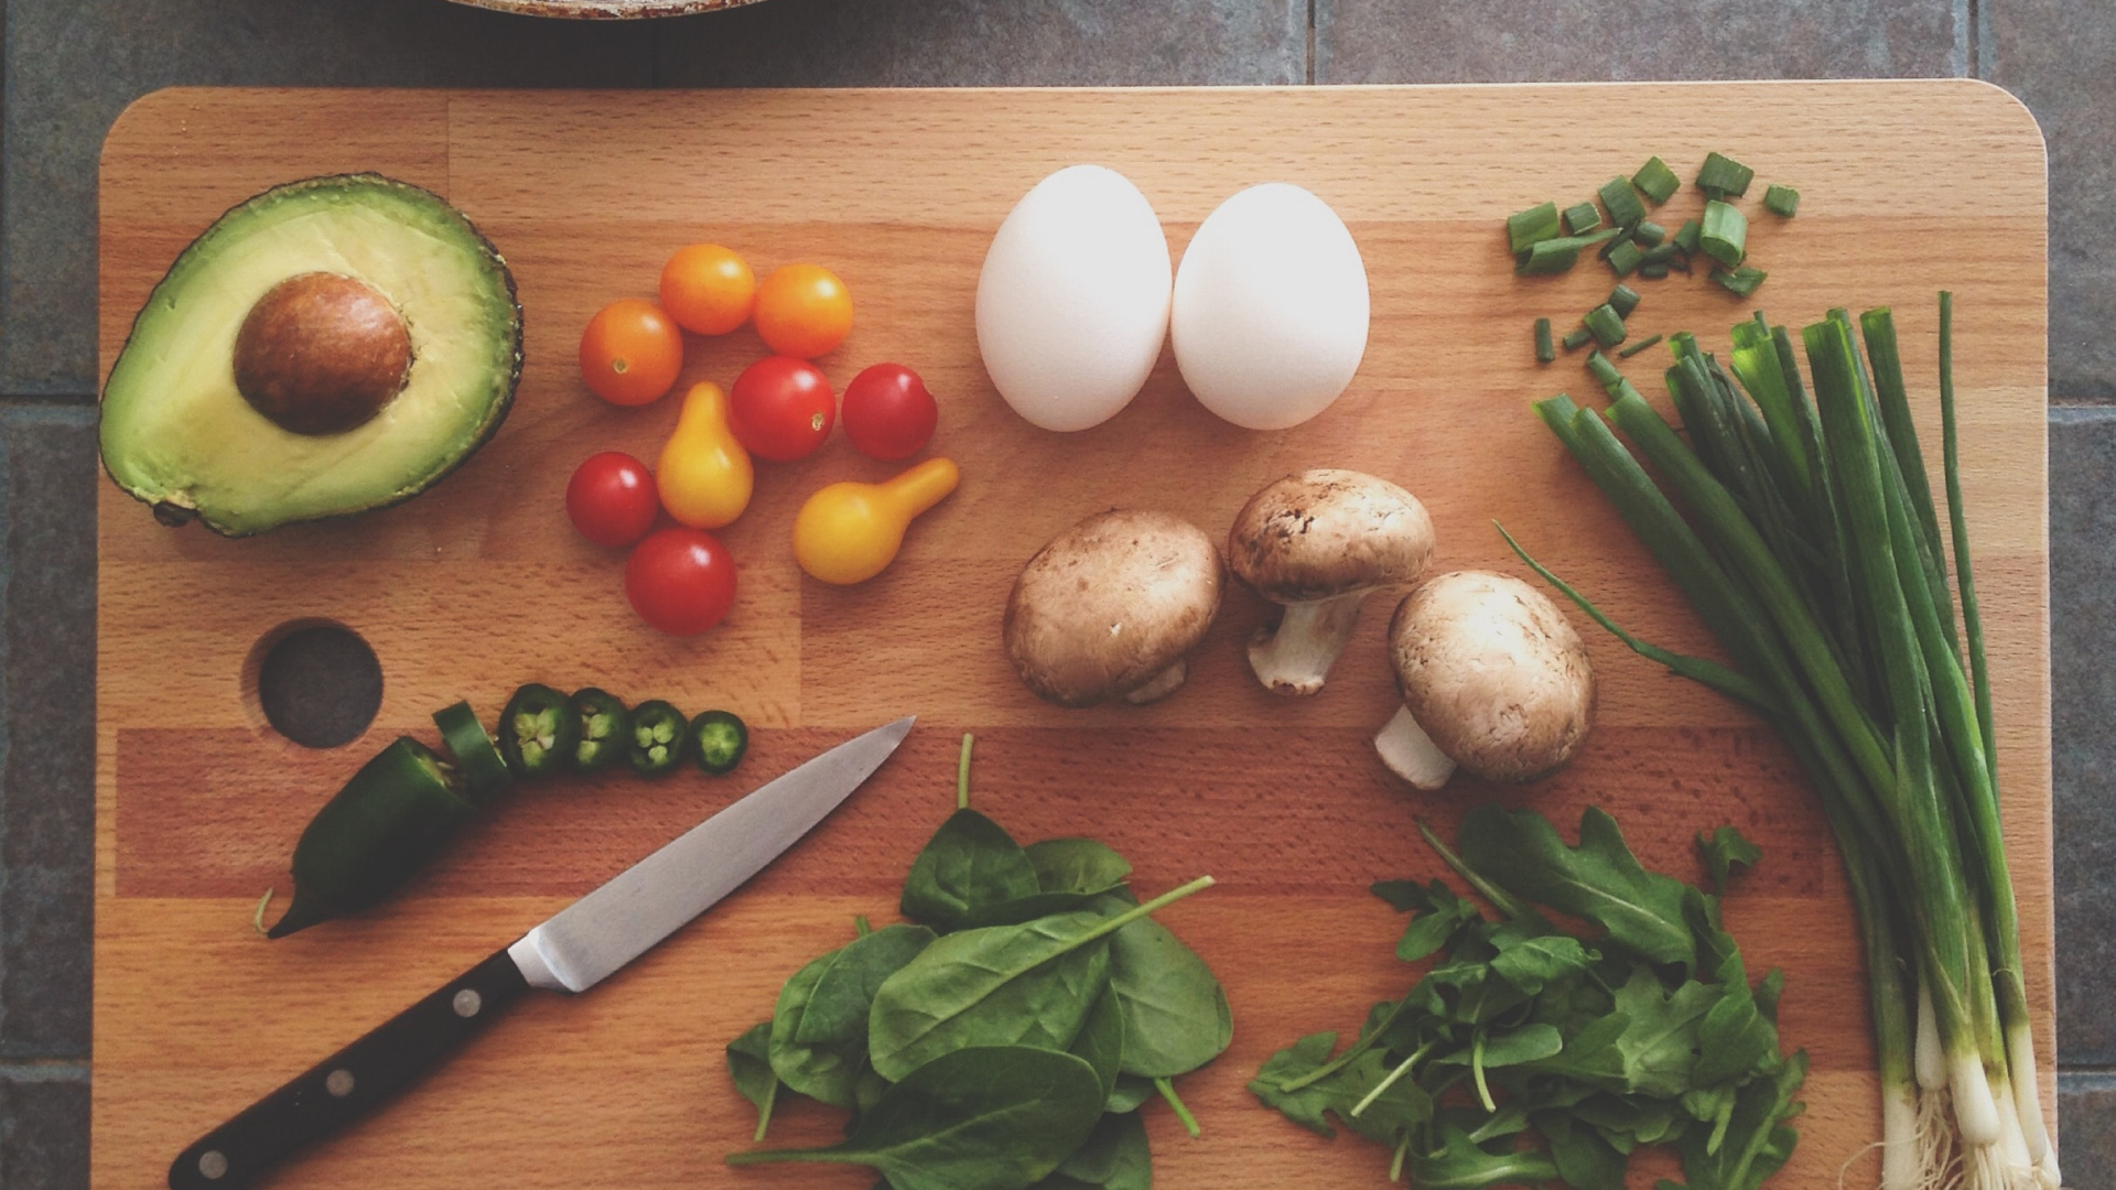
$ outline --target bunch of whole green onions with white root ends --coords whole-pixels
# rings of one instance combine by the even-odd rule
[[[1830,311],[1799,343],[1811,398],[1794,337],[1763,315],[1733,328],[1731,375],[1674,335],[1682,432],[1600,358],[1606,411],[1536,404],[1733,665],[1625,633],[1507,542],[1623,644],[1769,720],[1816,786],[1866,949],[1881,1186],[2055,1190],[1962,510],[1953,299],[1940,294],[1945,538],[1890,311],[1856,326]]]

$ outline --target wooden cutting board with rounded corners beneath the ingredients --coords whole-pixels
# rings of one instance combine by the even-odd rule
[[[1934,292],[1957,292],[1964,485],[1998,673],[2000,771],[2044,1063],[2050,993],[2050,707],[2044,519],[2044,165],[2033,121],[1978,83],[1409,87],[1215,91],[436,93],[161,91],[104,146],[102,360],[182,246],[224,208],[345,169],[430,186],[506,252],[527,366],[499,436],[427,495],[343,523],[229,542],[163,529],[104,485],[99,504],[97,906],[93,1184],[159,1186],[203,1129],[442,978],[516,938],[736,794],[855,731],[916,711],[899,756],[806,843],[711,915],[588,995],[540,997],[404,1101],[288,1167],[307,1186],[819,1186],[846,1169],[730,1171],[749,1107],[722,1044],[768,1014],[779,982],[893,917],[895,889],[950,809],[956,741],[980,735],[980,809],[1020,839],[1094,834],[1143,891],[1219,887],[1164,917],[1225,978],[1234,1048],[1183,1082],[1204,1139],[1151,1112],[1160,1186],[1380,1186],[1386,1154],[1312,1137],[1242,1084],[1301,1033],[1354,1025],[1409,980],[1382,877],[1441,866],[1413,832],[1452,830],[1488,798],[1538,807],[1570,834],[1608,807],[1648,866],[1697,875],[1693,832],[1727,822],[1763,843],[1727,919],[1750,970],[1786,968],[1784,1038],[1813,1059],[1784,1186],[1871,1182],[1879,1133],[1860,953],[1837,853],[1775,737],[1733,705],[1587,631],[1600,718],[1579,760],[1528,790],[1458,779],[1416,794],[1367,743],[1394,699],[1373,599],[1329,688],[1265,695],[1240,644],[1263,618],[1232,591],[1189,684],[1136,709],[1033,699],[999,650],[1020,563],[1075,519],[1166,508],[1225,531],[1242,500],[1301,466],[1411,487],[1439,565],[1521,574],[1492,519],[1638,633],[1710,648],[1674,589],[1528,413],[1593,385],[1579,356],[1538,366],[1530,322],[1559,330],[1600,303],[1606,269],[1519,282],[1498,224],[1543,199],[1583,201],[1661,155],[1705,150],[1801,191],[1799,218],[1754,214],[1758,303],[1803,324],[1828,305],[1894,305],[1938,459]],[[1047,434],[997,398],[978,362],[978,265],[1011,203],[1047,172],[1100,161],[1153,201],[1181,252],[1236,188],[1299,182],[1346,218],[1373,288],[1350,392],[1280,434],[1236,430],[1168,358],[1138,400],[1083,434]],[[1661,220],[1695,214],[1693,191]],[[838,434],[796,466],[760,466],[724,538],[741,559],[728,623],[677,642],[641,627],[622,557],[580,540],[561,491],[599,449],[654,459],[675,402],[618,411],[580,385],[586,318],[652,294],[662,258],[713,239],[762,273],[821,260],[851,286],[853,337],[823,360],[918,368],[942,400],[933,449],[963,487],[884,576],[827,589],[796,570],[800,500],[889,468]],[[1699,273],[1638,282],[1634,332],[1695,328],[1725,349],[1752,303]],[[762,354],[749,330],[690,341],[683,383],[728,383]],[[1653,356],[1655,360],[1659,354]],[[1629,368],[1659,394],[1650,368]],[[245,665],[303,620],[364,635],[385,686],[375,726],[311,752],[264,726]],[[523,790],[430,875],[358,919],[267,944],[258,894],[288,889],[309,813],[381,743],[432,739],[457,697],[491,720],[525,680],[607,686],[755,724],[741,773]],[[284,904],[284,902],[281,902]],[[2046,1082],[2048,1082],[2048,1071]],[[2048,1099],[2046,1099],[2048,1101]],[[785,1110],[777,1141],[825,1141],[836,1114]],[[1657,1167],[1672,1171],[1672,1165]],[[1642,1182],[1644,1171],[1634,1175]]]

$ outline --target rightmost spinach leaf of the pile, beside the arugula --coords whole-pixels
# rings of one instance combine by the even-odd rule
[[[1111,936],[1109,987],[1124,1006],[1126,1074],[1189,1074],[1234,1040],[1234,1014],[1212,968],[1151,917]]]

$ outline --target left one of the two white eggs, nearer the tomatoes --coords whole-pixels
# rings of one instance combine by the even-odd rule
[[[978,351],[1045,430],[1086,430],[1138,396],[1162,354],[1168,237],[1124,174],[1071,165],[999,224],[978,273]]]

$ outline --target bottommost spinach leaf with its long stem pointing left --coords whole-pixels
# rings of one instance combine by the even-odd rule
[[[1100,1118],[1100,1082],[1077,1057],[980,1046],[920,1065],[842,1143],[736,1152],[728,1165],[846,1162],[880,1171],[895,1190],[1022,1190],[1056,1171]]]

